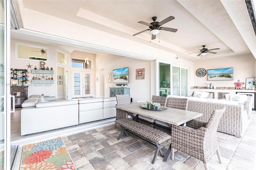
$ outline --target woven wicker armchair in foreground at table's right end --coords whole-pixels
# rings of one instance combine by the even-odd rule
[[[217,141],[217,127],[225,110],[225,106],[222,109],[214,110],[208,123],[202,123],[202,126],[198,129],[172,125],[172,160],[174,159],[174,149],[177,149],[201,160],[206,170],[208,170],[207,162],[214,152],[217,152],[219,162],[221,163]]]

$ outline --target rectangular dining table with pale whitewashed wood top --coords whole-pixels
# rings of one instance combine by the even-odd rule
[[[117,105],[116,108],[126,111],[126,113],[130,115],[135,121],[138,119],[136,115],[142,115],[151,119],[165,122],[169,127],[172,125],[179,126],[202,116],[202,113],[162,106],[160,111],[156,111],[153,109],[146,109],[145,105],[145,103],[131,103],[128,105]],[[170,154],[171,144],[166,152],[164,161],[167,161],[170,158]]]

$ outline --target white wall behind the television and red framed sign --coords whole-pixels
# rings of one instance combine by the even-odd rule
[[[132,97],[132,101],[137,102],[138,100],[151,99],[150,88],[152,80],[150,76],[150,61],[108,54],[96,55],[96,63],[95,77],[100,77],[100,69],[104,69],[105,71],[105,97],[109,97],[109,87],[120,87],[116,86],[116,83],[113,83],[113,69],[129,67],[129,83],[127,83],[127,87],[130,88],[130,97]],[[145,78],[136,79],[136,69],[141,68],[145,69]],[[108,73],[111,73],[111,83],[108,83],[107,80]],[[96,82],[96,96],[100,94],[99,86],[100,82]]]

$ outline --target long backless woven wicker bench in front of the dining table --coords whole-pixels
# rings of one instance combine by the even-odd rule
[[[160,145],[162,142],[169,140],[171,138],[171,136],[169,134],[167,134],[161,130],[155,129],[153,127],[144,125],[142,123],[133,121],[132,119],[119,119],[116,121],[116,124],[118,124],[118,125],[120,125],[120,127],[122,127],[122,131],[118,137],[118,140],[121,138],[123,133],[126,134],[126,136],[128,136],[126,132],[130,132],[140,138],[144,137],[144,138],[142,138],[143,140],[145,140],[146,142],[149,142],[150,144],[152,144],[156,147],[156,152],[154,154],[152,164],[154,164],[156,162],[156,157],[158,155],[158,152],[160,152],[161,156],[164,157],[164,154],[161,150]],[[150,141],[153,141],[154,143],[146,140],[145,138]]]

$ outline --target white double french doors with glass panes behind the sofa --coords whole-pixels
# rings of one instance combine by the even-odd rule
[[[72,98],[92,97],[92,72],[72,71]]]

